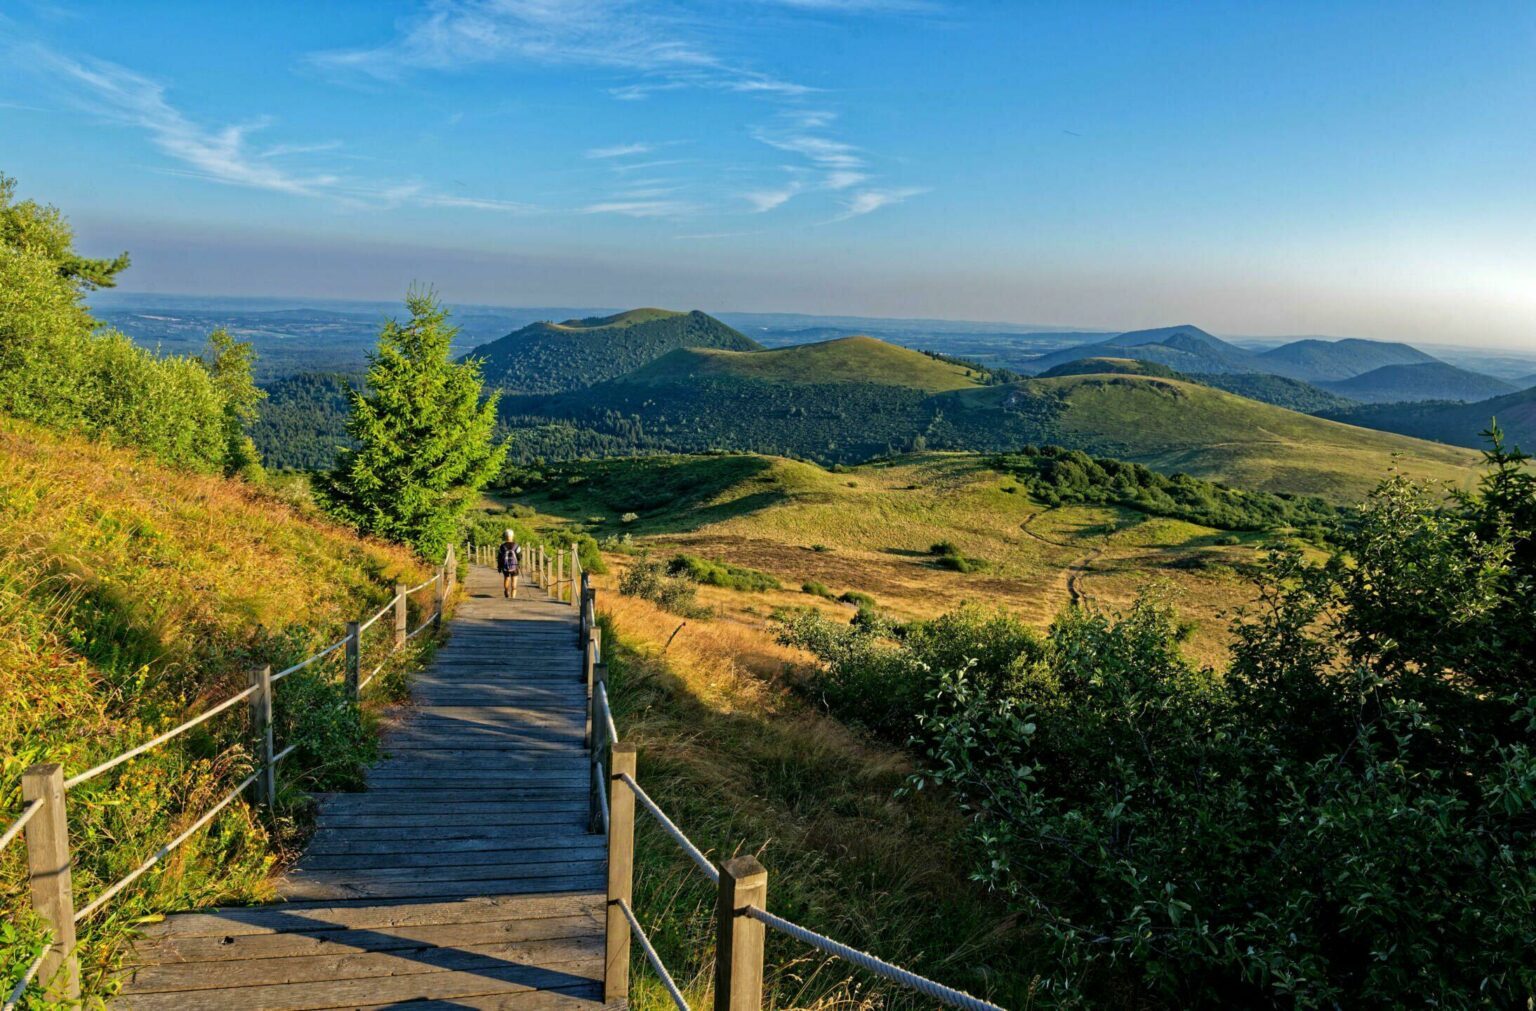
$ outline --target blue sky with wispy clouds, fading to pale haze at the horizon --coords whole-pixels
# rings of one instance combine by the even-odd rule
[[[1536,6],[0,0],[124,289],[1536,346]]]

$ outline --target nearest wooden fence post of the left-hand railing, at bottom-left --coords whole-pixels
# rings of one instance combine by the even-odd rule
[[[54,937],[52,946],[43,954],[38,979],[48,986],[52,1000],[72,1003],[80,999],[80,959],[75,954],[75,897],[69,876],[63,767],[46,762],[22,773],[22,801],[43,802],[43,810],[26,824],[32,908]]]

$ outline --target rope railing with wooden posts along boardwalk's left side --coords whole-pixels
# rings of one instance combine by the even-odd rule
[[[300,742],[289,744],[281,751],[273,753],[272,730],[270,730],[272,685],[281,681],[283,678],[287,678],[289,675],[304,670],[306,667],[310,667],[313,664],[318,664],[319,661],[326,659],[327,656],[332,656],[338,650],[350,647],[347,648],[347,675],[350,688],[352,682],[355,682],[356,679],[356,661],[362,648],[362,633],[369,630],[372,625],[375,625],[390,610],[396,610],[398,615],[396,618],[398,624],[395,625],[396,638],[395,638],[395,647],[390,650],[393,653],[401,647],[402,642],[416,638],[416,635],[419,635],[425,628],[433,627],[435,624],[441,624],[444,605],[447,601],[447,593],[453,587],[455,570],[456,570],[456,555],[450,547],[444,559],[444,565],[438,570],[438,575],[409,588],[399,587],[396,584],[396,593],[390,598],[390,601],[384,607],[381,607],[375,615],[372,615],[367,621],[359,622],[356,625],[350,625],[347,636],[343,638],[341,641],[326,647],[324,650],[315,653],[313,656],[300,661],[298,664],[293,664],[292,667],[286,667],[276,675],[270,673],[270,667],[261,671],[255,671],[252,675],[250,687],[244,688],[243,691],[235,693],[233,696],[224,699],[218,705],[214,705],[204,713],[200,713],[198,716],[194,716],[192,719],[187,719],[178,724],[177,727],[172,727],[170,730],[166,730],[164,733],[160,733],[151,738],[149,741],[144,741],[143,744],[132,747],[127,751],[123,751],[121,754],[115,754],[98,765],[94,765],[75,776],[71,776],[69,779],[63,777],[58,765],[41,764],[31,767],[23,776],[22,785],[23,785],[23,794],[26,796],[28,793],[31,793],[32,796],[26,799],[26,804],[22,808],[22,813],[15,817],[15,820],[11,822],[11,825],[5,830],[5,833],[0,833],[0,850],[5,850],[6,845],[9,845],[17,837],[25,834],[28,850],[31,853],[29,863],[34,868],[68,867],[72,862],[72,857],[69,853],[68,822],[65,819],[63,805],[65,805],[65,797],[71,788],[89,782],[91,779],[95,779],[97,776],[111,771],[118,765],[123,765],[124,762],[129,762],[134,757],[138,757],[140,754],[144,754],[146,751],[151,751],[166,744],[167,741],[172,741],[177,736],[187,733],[189,730],[194,730],[195,727],[200,727],[201,724],[214,719],[220,713],[224,713],[229,708],[244,701],[250,701],[252,704],[252,719],[253,721],[260,719],[264,725],[264,730],[263,727],[258,727],[258,739],[264,733],[266,756],[264,761],[257,767],[257,770],[244,781],[241,781],[233,790],[226,793],[218,801],[218,804],[215,804],[212,808],[198,816],[198,819],[192,822],[192,825],[189,825],[180,834],[177,834],[175,839],[160,847],[154,854],[149,856],[149,859],[135,867],[132,871],[112,882],[89,905],[80,908],[78,911],[74,911],[74,896],[71,894],[68,876],[60,876],[52,871],[48,871],[43,879],[38,879],[40,871],[37,870],[32,871],[31,880],[34,890],[34,905],[37,907],[37,911],[41,914],[46,925],[52,930],[54,940],[43,950],[41,954],[37,956],[37,959],[23,974],[23,977],[15,983],[15,986],[12,988],[3,1005],[0,1005],[0,1011],[11,1011],[11,1008],[15,1008],[20,1003],[22,997],[26,993],[26,988],[37,977],[38,971],[49,965],[49,956],[55,959],[52,966],[48,968],[48,976],[51,977],[48,982],[49,996],[66,1002],[77,1000],[78,968],[75,962],[77,956],[74,951],[75,923],[80,923],[95,916],[100,910],[106,907],[108,902],[121,894],[123,890],[126,890],[135,880],[149,873],[166,856],[169,856],[183,844],[186,844],[186,840],[190,839],[197,831],[209,825],[215,817],[218,817],[218,814],[223,810],[226,810],[230,804],[233,804],[235,799],[240,797],[240,794],[243,794],[250,787],[253,785],[257,787],[258,799],[263,804],[270,805],[272,801],[275,799],[273,793],[276,782],[275,781],[276,765],[283,759],[290,756],[300,747]],[[406,607],[407,607],[406,598],[433,584],[439,584],[439,592],[436,595],[432,615],[415,631],[402,635],[406,627]],[[355,704],[359,701],[358,696],[361,694],[362,687],[367,685],[367,682],[372,681],[384,668],[387,662],[389,659],[386,658],[386,661],[381,662],[378,667],[375,667],[373,671],[369,673],[369,676],[364,681],[356,684],[356,688],[353,690],[352,694],[352,701]],[[38,819],[38,816],[45,817]],[[45,828],[43,831],[34,836],[32,828],[35,828],[37,824],[43,824]],[[43,893],[46,893],[48,896],[46,900],[40,897],[38,893],[40,888]],[[57,979],[63,979],[63,982],[58,983]]]

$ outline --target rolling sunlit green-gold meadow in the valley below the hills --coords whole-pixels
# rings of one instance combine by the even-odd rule
[[[1192,651],[1217,659],[1226,612],[1252,595],[1244,568],[1269,539],[1117,505],[1049,507],[972,453],[836,470],[771,456],[659,456],[561,473],[519,496],[545,522],[777,578],[780,590],[699,587],[700,601],[765,636],[776,608],[851,618],[857,604],[836,599],[846,592],[869,595],[877,610],[902,619],[971,601],[1043,628],[1074,601],[1118,610],[1158,584],[1193,622]],[[940,542],[977,570],[948,568],[932,550]],[[806,593],[806,584],[826,587],[829,598]]]

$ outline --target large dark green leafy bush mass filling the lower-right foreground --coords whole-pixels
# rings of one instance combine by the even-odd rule
[[[957,612],[785,641],[909,741],[1054,1006],[1524,1006],[1536,993],[1536,476],[1402,479],[1275,550],[1224,670],[1155,599],[1044,636]]]

